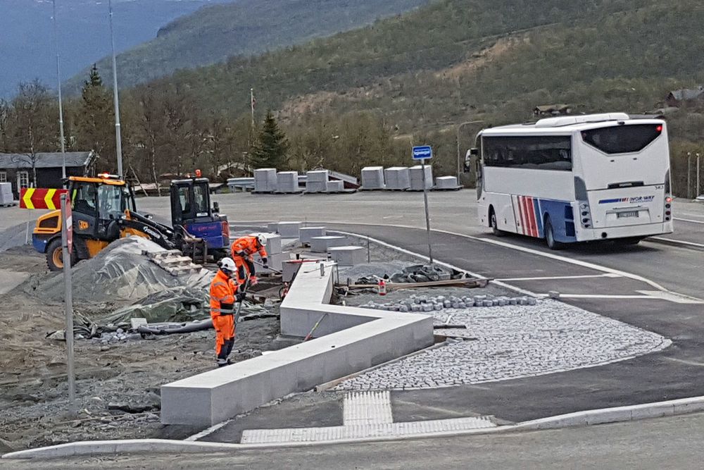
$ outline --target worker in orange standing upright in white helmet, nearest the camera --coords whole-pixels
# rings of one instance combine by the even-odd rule
[[[227,359],[234,346],[235,302],[241,302],[244,294],[238,294],[237,266],[231,258],[220,260],[220,269],[210,283],[210,318],[215,328],[215,354],[218,367],[232,364]]]

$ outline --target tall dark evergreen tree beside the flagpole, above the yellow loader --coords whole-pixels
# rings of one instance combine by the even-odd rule
[[[103,85],[103,79],[95,64],[81,89],[81,101],[76,116],[76,148],[82,151],[94,150],[102,156],[101,170],[111,171],[115,161],[115,113],[110,92]]]

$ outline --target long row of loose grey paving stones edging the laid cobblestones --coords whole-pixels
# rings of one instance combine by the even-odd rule
[[[389,311],[429,312],[443,309],[467,309],[470,307],[505,307],[506,305],[535,305],[534,297],[495,297],[494,295],[411,295],[408,299],[396,302],[367,302],[360,305],[363,309]]]

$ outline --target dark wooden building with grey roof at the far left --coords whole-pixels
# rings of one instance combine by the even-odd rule
[[[93,151],[67,151],[66,175],[84,176],[93,171],[96,154]],[[0,154],[0,183],[12,183],[15,199],[23,187],[63,187],[61,152],[34,154]],[[37,180],[34,181],[34,170]]]

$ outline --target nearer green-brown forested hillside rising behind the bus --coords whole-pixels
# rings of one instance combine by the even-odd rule
[[[246,168],[259,123],[272,109],[287,135],[289,168],[358,175],[366,165],[410,163],[410,145],[423,142],[434,146],[436,174],[454,174],[455,136],[465,121],[482,122],[463,128],[460,153],[472,132],[532,118],[538,105],[643,113],[661,107],[671,89],[703,84],[703,23],[704,4],[695,0],[435,1],[358,30],[181,70],[123,92],[125,158],[153,180],[196,165],[211,175],[224,163]],[[85,96],[110,101],[104,87],[93,88],[70,104],[67,121],[79,137],[92,132],[82,130],[80,116],[97,102]],[[693,102],[667,115],[680,195],[686,152],[704,153],[703,111]],[[103,114],[101,132],[109,136],[111,117]],[[103,149],[111,155],[110,142]]]

